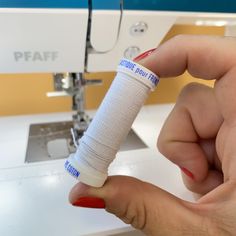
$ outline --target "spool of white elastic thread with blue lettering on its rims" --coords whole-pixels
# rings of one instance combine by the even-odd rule
[[[118,73],[75,154],[66,161],[67,171],[81,182],[101,187],[107,169],[127,136],[134,119],[159,79],[143,66],[122,59]]]

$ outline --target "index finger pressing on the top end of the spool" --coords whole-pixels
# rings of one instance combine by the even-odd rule
[[[160,77],[181,75],[219,79],[236,65],[236,40],[231,37],[180,35],[142,59],[142,65]]]

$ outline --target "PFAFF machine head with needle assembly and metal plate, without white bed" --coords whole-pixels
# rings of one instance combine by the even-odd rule
[[[71,96],[75,111],[71,121],[30,126],[26,162],[65,158],[75,151],[71,131],[78,140],[90,122],[84,111],[84,86],[101,83],[86,81],[84,72],[114,71],[121,57],[132,59],[155,47],[176,23],[225,25],[231,35],[235,30],[233,1],[225,6],[215,3],[214,8],[204,1],[191,4],[0,1],[0,4],[0,73],[54,73],[56,91],[47,95]],[[128,139],[142,147],[134,132]]]

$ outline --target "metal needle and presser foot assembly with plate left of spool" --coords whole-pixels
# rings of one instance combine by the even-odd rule
[[[47,95],[71,96],[75,114],[72,121],[32,124],[29,129],[26,162],[65,158],[75,152],[73,139],[77,142],[90,123],[84,110],[84,86],[97,84],[101,84],[101,80],[85,80],[82,73],[54,74],[55,92]]]

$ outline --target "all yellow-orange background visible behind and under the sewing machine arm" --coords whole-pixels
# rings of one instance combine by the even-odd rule
[[[175,25],[166,35],[165,40],[177,34],[224,35],[223,27],[199,27]],[[89,79],[103,79],[102,86],[86,88],[86,107],[94,109],[101,103],[114,78],[114,73],[87,74]],[[152,93],[147,104],[174,102],[181,88],[194,81],[187,73],[176,79],[161,80],[158,89]],[[199,80],[197,80],[199,82]],[[71,110],[69,97],[47,98],[46,93],[53,91],[50,74],[0,75],[0,115],[19,115],[61,112]],[[206,82],[212,85],[212,82]]]

